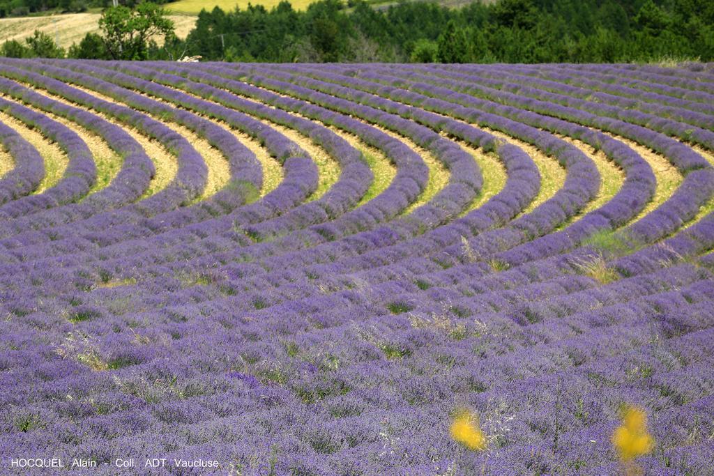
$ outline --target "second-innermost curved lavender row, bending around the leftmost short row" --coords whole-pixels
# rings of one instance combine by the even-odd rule
[[[63,124],[21,104],[0,98],[0,106],[4,108],[6,114],[39,129],[42,135],[55,141],[69,159],[62,178],[55,186],[43,193],[23,196],[1,205],[0,218],[4,219],[2,224],[7,223],[11,218],[77,201],[86,195],[96,181],[96,167],[94,158],[84,141]]]

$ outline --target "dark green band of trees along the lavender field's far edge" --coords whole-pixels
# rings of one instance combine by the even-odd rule
[[[305,11],[283,1],[270,10],[201,11],[186,39],[176,38],[161,6],[145,2],[106,9],[100,27],[101,34],[88,34],[66,52],[36,32],[26,44],[6,42],[0,54],[269,62],[714,59],[710,0],[499,0],[457,9],[431,1],[376,8],[363,0],[320,0]]]

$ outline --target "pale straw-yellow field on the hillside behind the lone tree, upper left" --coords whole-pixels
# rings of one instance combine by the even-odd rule
[[[199,4],[201,2],[195,2]],[[22,40],[32,36],[35,30],[44,31],[64,49],[79,43],[90,32],[99,33],[100,14],[65,14],[51,16],[26,16],[23,18],[0,19],[0,43],[7,40]],[[176,26],[176,36],[186,38],[196,25],[195,16],[169,16]],[[158,40],[158,39],[157,39]]]

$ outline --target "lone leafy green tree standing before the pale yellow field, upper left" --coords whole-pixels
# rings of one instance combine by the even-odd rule
[[[104,35],[104,46],[113,59],[147,59],[149,40],[156,35],[171,39],[174,22],[166,18],[166,11],[149,1],[135,9],[113,6],[99,19]]]

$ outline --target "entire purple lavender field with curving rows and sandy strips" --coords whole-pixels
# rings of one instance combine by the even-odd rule
[[[1,59],[0,108],[0,474],[714,475],[713,64]]]

